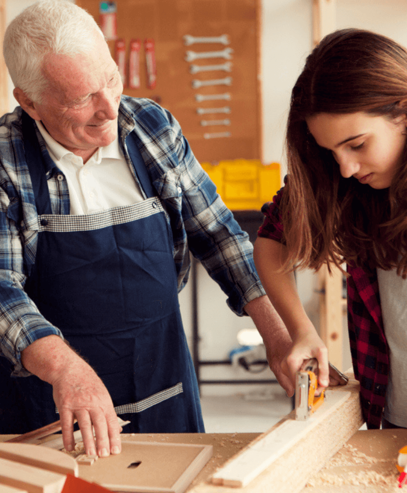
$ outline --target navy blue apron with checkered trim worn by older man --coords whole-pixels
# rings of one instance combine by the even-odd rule
[[[125,432],[203,432],[172,233],[136,137],[126,144],[147,199],[87,215],[52,214],[27,115],[23,137],[39,222],[26,292],[101,377],[117,414],[131,421]],[[1,357],[0,433],[24,433],[59,419],[52,387],[35,376],[10,378],[11,371]]]

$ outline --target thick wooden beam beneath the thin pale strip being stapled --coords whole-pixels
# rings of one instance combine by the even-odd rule
[[[271,485],[272,491],[299,493],[304,488],[308,478],[321,469],[329,458],[360,428],[363,419],[359,402],[359,384],[350,372],[347,375],[349,377],[348,385],[333,388],[332,391],[335,393],[350,392],[350,396],[248,485],[239,488],[238,493],[270,493]],[[293,417],[294,412],[283,418],[269,431],[260,435],[248,447],[262,440],[264,436]],[[244,454],[245,450],[247,448],[240,454]],[[231,460],[235,460],[240,454]],[[236,493],[237,490],[235,487],[207,483],[201,483],[189,490],[189,493],[220,492]]]

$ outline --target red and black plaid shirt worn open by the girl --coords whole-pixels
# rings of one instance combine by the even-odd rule
[[[279,209],[284,187],[263,206],[264,223],[258,236],[282,241]],[[348,265],[347,306],[350,350],[360,401],[368,428],[379,428],[389,373],[389,349],[384,336],[376,269]]]

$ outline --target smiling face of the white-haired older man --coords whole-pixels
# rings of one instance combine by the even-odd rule
[[[117,135],[121,77],[102,36],[88,55],[49,55],[43,64],[49,87],[29,112],[48,133],[86,162]]]

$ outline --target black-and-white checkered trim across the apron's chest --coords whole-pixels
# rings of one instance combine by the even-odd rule
[[[163,211],[160,199],[151,197],[130,206],[114,207],[94,214],[42,214],[38,216],[38,231],[53,231],[57,233],[90,231],[136,221]]]

